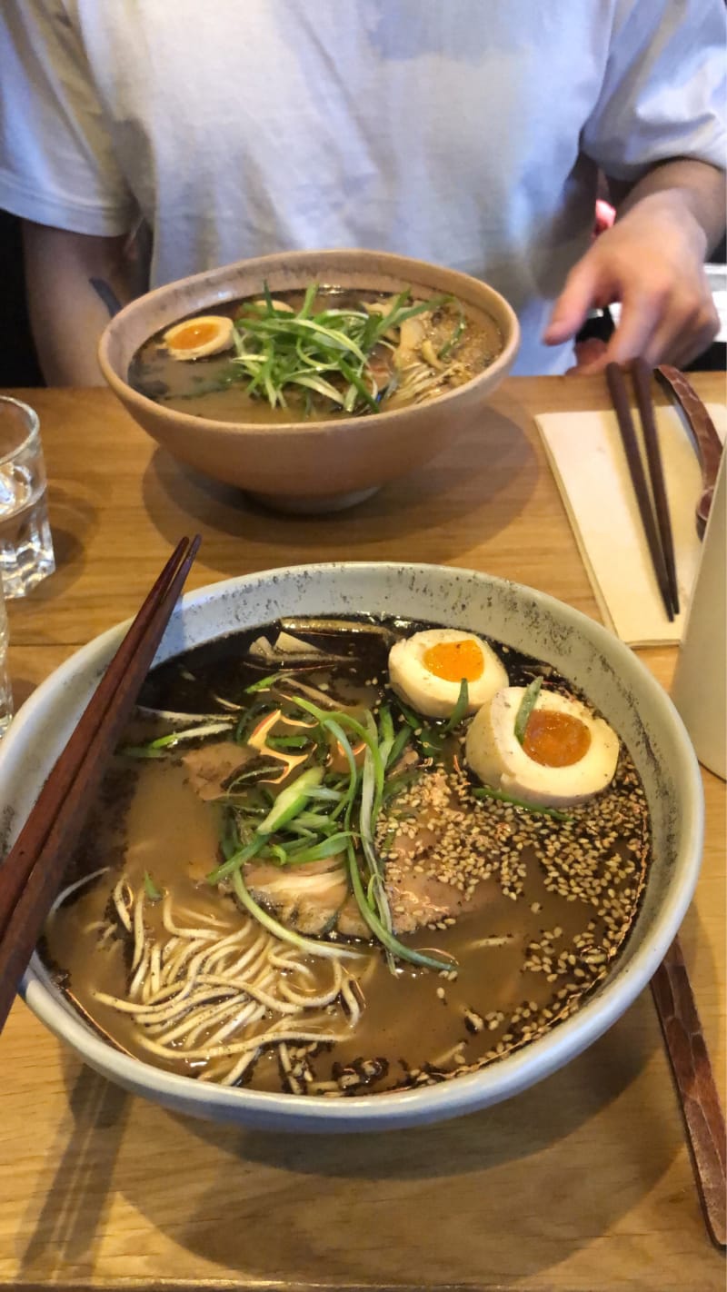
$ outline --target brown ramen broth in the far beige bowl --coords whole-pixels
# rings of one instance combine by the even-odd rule
[[[365,304],[376,305],[387,300],[390,298],[377,292],[325,288],[319,292],[314,307],[360,310]],[[303,302],[303,292],[276,292],[275,301],[298,310]],[[225,306],[210,307],[204,317],[236,319],[245,304],[245,298],[240,298]],[[189,315],[190,320],[194,318],[195,315]],[[461,319],[465,320],[462,329]],[[438,348],[447,346],[448,340],[460,332],[452,353],[439,364],[439,370],[426,363],[417,344],[408,372],[396,382],[396,399],[384,397],[381,408],[404,407],[408,402],[421,402],[422,398],[462,385],[489,367],[502,349],[500,328],[493,318],[483,311],[464,310],[457,302],[442,306],[434,329]],[[183,362],[172,357],[164,335],[165,329],[158,332],[137,350],[128,375],[129,385],[156,403],[214,421],[282,424],[342,416],[341,408],[310,390],[288,391],[284,406],[271,407],[260,391],[248,394],[241,370],[231,362],[232,350]],[[372,354],[372,364],[381,385],[389,376],[389,370],[385,377],[381,376],[382,364],[389,364],[393,353],[391,344],[377,346]],[[431,351],[426,353],[431,355]],[[412,398],[408,399],[405,389],[412,377],[415,385]]]

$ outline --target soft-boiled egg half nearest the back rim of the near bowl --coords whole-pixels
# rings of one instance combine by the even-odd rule
[[[404,637],[389,652],[389,681],[405,704],[429,718],[448,718],[467,683],[467,713],[501,687],[507,674],[493,650],[473,633],[427,628]]]

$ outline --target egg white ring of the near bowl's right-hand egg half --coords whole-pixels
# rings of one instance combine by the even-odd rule
[[[557,709],[579,718],[590,731],[590,745],[569,767],[545,767],[531,758],[515,736],[515,714],[524,694],[509,686],[484,704],[467,729],[465,757],[480,780],[522,798],[550,808],[585,802],[611,784],[619,761],[619,736],[603,718],[580,700],[541,690],[536,709]]]

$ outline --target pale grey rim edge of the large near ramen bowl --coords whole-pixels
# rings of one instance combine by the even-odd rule
[[[607,628],[582,611],[568,606],[567,602],[526,584],[460,566],[398,561],[332,561],[282,566],[207,584],[185,594],[174,610],[173,619],[179,619],[186,611],[204,606],[207,602],[216,601],[238,589],[249,589],[271,581],[279,583],[283,578],[300,576],[303,571],[325,578],[331,572],[354,570],[384,570],[404,575],[408,572],[427,575],[436,571],[439,575],[474,576],[476,580],[483,580],[502,590],[532,598],[544,610],[555,610],[560,618],[566,618],[569,627],[585,633],[597,647],[600,646],[604,651],[607,649],[611,659],[616,655],[629,682],[633,681],[646,689],[650,699],[660,708],[661,718],[670,729],[670,734],[675,736],[675,744],[679,749],[679,766],[673,765],[671,770],[675,779],[684,787],[682,833],[688,841],[688,844],[683,844],[677,857],[675,871],[681,879],[670,885],[666,899],[655,919],[650,941],[635,950],[626,968],[616,975],[611,985],[606,983],[603,992],[586,1000],[579,1010],[545,1036],[523,1047],[501,1063],[493,1063],[479,1072],[421,1089],[382,1092],[376,1096],[351,1096],[342,1099],[306,1096],[303,1099],[293,1094],[254,1090],[248,1087],[229,1088],[212,1084],[200,1087],[192,1078],[152,1067],[142,1059],[112,1049],[90,1031],[80,1016],[75,1016],[70,1006],[62,1001],[59,994],[48,986],[48,974],[37,955],[34,953],[19,991],[36,1017],[105,1076],[116,1080],[127,1089],[158,1098],[168,1106],[176,1105],[190,1114],[210,1115],[205,1111],[207,1106],[213,1107],[214,1115],[218,1118],[258,1125],[263,1129],[372,1130],[445,1120],[510,1098],[577,1057],[621,1017],[648,985],[666,955],[693,895],[701,864],[704,792],[696,755],[686,727],[671,700],[646,664]],[[41,714],[46,704],[52,705],[53,695],[57,691],[62,693],[65,683],[76,677],[79,672],[98,674],[99,668],[105,667],[129,623],[130,620],[125,620],[94,637],[50,673],[32,693],[12,724],[8,736],[0,744],[0,776],[4,762],[13,756],[14,744],[19,740],[22,745],[26,729],[32,727],[36,714]],[[13,735],[13,733],[15,734]]]

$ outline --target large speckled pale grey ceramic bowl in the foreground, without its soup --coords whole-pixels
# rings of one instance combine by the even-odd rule
[[[22,991],[30,1008],[112,1081],[196,1116],[289,1130],[368,1130],[456,1116],[509,1098],[590,1045],[631,1004],[671,943],[695,889],[702,840],[696,758],[670,700],[635,655],[568,606],[467,570],[439,566],[319,565],[231,579],[189,597],[159,659],[279,615],[373,612],[434,620],[527,651],[582,687],[626,742],[643,779],[653,862],[628,944],[582,1008],[550,1034],[483,1071],[440,1085],[343,1099],[200,1085],[112,1049],[74,1013],[34,957]],[[0,786],[14,836],[124,625],[90,642],[23,705],[0,745]],[[6,827],[8,828],[8,827]]]

